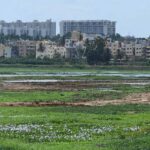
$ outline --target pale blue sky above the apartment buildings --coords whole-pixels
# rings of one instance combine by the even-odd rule
[[[112,20],[123,36],[150,36],[150,0],[0,0],[0,20]]]

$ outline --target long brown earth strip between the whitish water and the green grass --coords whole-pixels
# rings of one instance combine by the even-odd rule
[[[0,84],[0,90],[11,90],[11,91],[18,91],[18,90],[82,90],[86,88],[111,88],[113,85],[118,84],[140,84],[140,83],[147,83],[149,81],[142,81],[142,80],[124,80],[124,81],[110,81],[110,80],[98,80],[98,81],[64,81],[64,82],[48,82],[48,83],[3,83]]]

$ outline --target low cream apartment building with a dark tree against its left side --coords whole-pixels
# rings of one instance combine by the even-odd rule
[[[61,57],[66,57],[66,48],[57,46],[51,41],[40,41],[36,44],[36,58],[54,58],[55,54],[60,54]]]

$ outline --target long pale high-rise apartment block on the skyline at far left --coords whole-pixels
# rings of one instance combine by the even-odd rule
[[[56,35],[56,22],[47,20],[45,22],[39,22],[34,20],[33,22],[22,22],[18,20],[16,22],[0,21],[0,34],[4,35],[16,35],[16,36],[30,36],[36,37],[54,37]]]

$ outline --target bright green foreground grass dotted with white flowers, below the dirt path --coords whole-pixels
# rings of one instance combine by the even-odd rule
[[[150,105],[1,108],[0,148],[3,150],[125,150],[126,148],[149,150],[149,115]],[[2,130],[6,126],[13,128],[19,125],[40,127],[28,132]],[[112,128],[112,131],[91,130],[102,127]],[[131,130],[137,127],[137,130]],[[71,139],[71,136],[81,132],[81,128],[83,132],[88,132],[90,139]],[[56,138],[39,140],[43,134],[53,133],[56,133]],[[35,138],[32,139],[31,136]],[[66,136],[69,138],[63,138]]]

